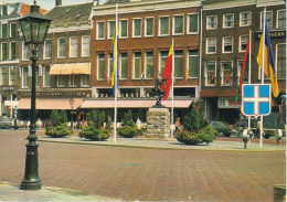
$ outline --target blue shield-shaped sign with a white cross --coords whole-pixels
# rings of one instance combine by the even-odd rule
[[[267,116],[272,111],[270,84],[244,84],[242,108],[245,116]]]

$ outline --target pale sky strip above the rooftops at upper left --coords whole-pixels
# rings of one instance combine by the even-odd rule
[[[26,4],[33,4],[34,0],[0,0],[0,2],[23,2]],[[106,0],[99,0],[99,4],[103,4]],[[78,3],[86,3],[86,2],[93,2],[93,0],[62,0],[63,6],[67,4],[78,4]],[[55,7],[55,0],[36,0],[36,4],[41,7],[41,9],[50,10],[53,7]]]

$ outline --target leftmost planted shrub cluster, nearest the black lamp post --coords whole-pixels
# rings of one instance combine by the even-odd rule
[[[51,115],[51,126],[45,128],[45,135],[52,138],[71,136],[73,130],[67,126],[66,120],[67,118],[64,109],[61,110],[61,114],[59,114],[56,109],[53,109]]]

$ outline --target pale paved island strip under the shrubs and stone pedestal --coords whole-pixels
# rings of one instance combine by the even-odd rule
[[[236,139],[235,141],[224,141],[220,138],[214,139],[210,145],[200,143],[196,146],[189,146],[179,142],[176,138],[173,139],[152,139],[145,137],[135,137],[135,138],[116,138],[116,142],[114,142],[114,137],[111,137],[105,141],[91,141],[84,138],[79,138],[75,135],[66,138],[51,138],[49,136],[38,136],[38,141],[49,141],[49,142],[59,142],[59,143],[84,143],[84,145],[96,145],[96,146],[113,146],[113,147],[134,147],[134,148],[150,148],[150,149],[177,149],[177,150],[214,150],[214,151],[285,151],[286,146],[277,146],[258,143],[258,140],[252,139],[249,143],[247,143],[247,148],[244,149],[244,142],[242,138],[232,138]]]

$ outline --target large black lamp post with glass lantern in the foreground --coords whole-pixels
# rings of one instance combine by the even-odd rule
[[[32,87],[30,110],[31,125],[29,136],[26,137],[29,142],[25,145],[25,173],[21,183],[22,190],[40,190],[42,188],[42,183],[38,173],[39,145],[35,142],[38,139],[35,135],[35,65],[36,61],[39,60],[36,57],[36,52],[39,51],[40,45],[44,43],[51,21],[51,19],[40,13],[40,6],[36,4],[35,0],[34,4],[31,6],[30,13],[19,19],[25,44],[29,45],[29,49],[32,52],[32,56],[30,57],[30,60],[32,61]]]

